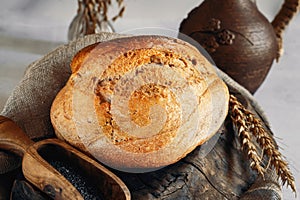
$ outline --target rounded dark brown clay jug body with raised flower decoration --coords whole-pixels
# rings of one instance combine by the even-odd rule
[[[269,21],[250,0],[205,0],[180,24],[216,65],[254,93],[276,58],[278,45]]]

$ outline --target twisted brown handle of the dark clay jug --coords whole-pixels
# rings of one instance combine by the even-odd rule
[[[285,0],[282,4],[281,9],[275,16],[274,20],[272,21],[272,26],[274,28],[277,42],[278,42],[278,52],[276,56],[276,60],[278,61],[279,57],[283,53],[282,47],[282,34],[291,19],[299,10],[300,0]]]

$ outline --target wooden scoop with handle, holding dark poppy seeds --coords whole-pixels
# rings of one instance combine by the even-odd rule
[[[96,199],[131,198],[121,179],[98,162],[58,139],[34,143],[16,123],[3,116],[0,116],[0,149],[23,157],[24,177],[54,199],[79,200],[85,197],[72,181],[50,164],[53,160],[80,173],[96,191],[93,193],[99,194]]]

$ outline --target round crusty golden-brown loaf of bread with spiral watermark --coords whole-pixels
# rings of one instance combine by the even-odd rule
[[[175,163],[209,140],[228,89],[192,45],[133,36],[82,49],[51,108],[56,135],[123,171]]]

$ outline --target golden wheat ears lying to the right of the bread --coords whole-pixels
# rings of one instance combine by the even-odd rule
[[[247,147],[244,145],[246,134],[242,132],[247,133],[247,140],[245,141],[246,143],[251,144],[251,149],[243,148],[243,150],[247,151],[248,158],[252,160],[250,167],[256,170],[259,174],[263,175],[265,170],[269,168],[270,165],[273,166],[278,178],[281,178],[283,185],[287,183],[293,192],[296,193],[295,179],[288,167],[288,163],[282,159],[282,155],[277,149],[274,139],[264,128],[263,122],[250,110],[246,109],[234,95],[230,95],[229,104],[231,119],[234,126],[238,130],[239,137],[242,141],[242,148]],[[257,143],[262,148],[262,156],[259,159],[255,156],[257,155],[257,149],[254,144],[251,143],[250,134],[256,137]],[[255,155],[253,152],[255,152]],[[269,158],[269,164],[266,166],[266,168],[262,167],[262,158],[264,156]]]

